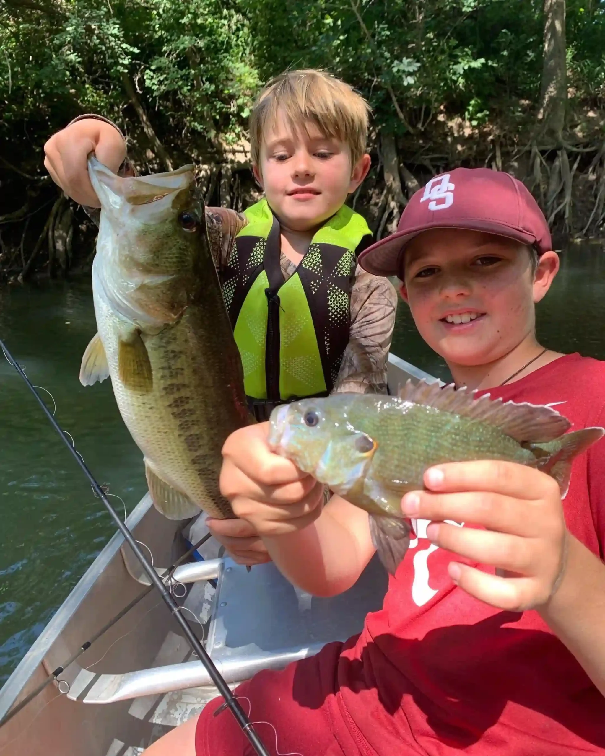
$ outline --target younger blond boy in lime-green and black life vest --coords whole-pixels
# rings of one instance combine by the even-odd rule
[[[250,117],[253,172],[265,198],[245,218],[207,208],[225,304],[244,365],[250,408],[266,420],[276,404],[330,392],[386,392],[397,296],[356,256],[371,242],[345,205],[365,178],[368,104],[340,79],[289,71],[265,86]],[[76,202],[98,207],[86,159],[132,175],[116,125],[79,116],[45,144],[45,166]],[[238,561],[268,559],[246,522],[212,521]],[[248,540],[242,540],[246,535]],[[231,541],[236,537],[236,541]]]

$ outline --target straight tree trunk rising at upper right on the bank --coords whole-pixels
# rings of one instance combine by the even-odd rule
[[[545,137],[559,145],[567,101],[565,0],[544,0],[544,63],[538,122]]]

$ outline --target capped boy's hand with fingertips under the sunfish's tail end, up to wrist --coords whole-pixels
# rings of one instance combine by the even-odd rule
[[[403,513],[433,521],[427,527],[433,544],[499,573],[452,561],[451,579],[499,609],[546,609],[566,574],[573,540],[557,482],[523,465],[485,460],[433,467],[424,483],[427,490],[405,494]]]

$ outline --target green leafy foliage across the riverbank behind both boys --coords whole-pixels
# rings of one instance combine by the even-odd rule
[[[262,81],[320,67],[355,85],[375,125],[423,131],[531,116],[542,0],[0,0],[0,135],[36,156],[73,116],[103,113],[146,146],[135,86],[171,153],[216,153],[245,135]],[[605,2],[568,0],[572,101],[605,94]],[[399,113],[398,113],[399,110]]]

